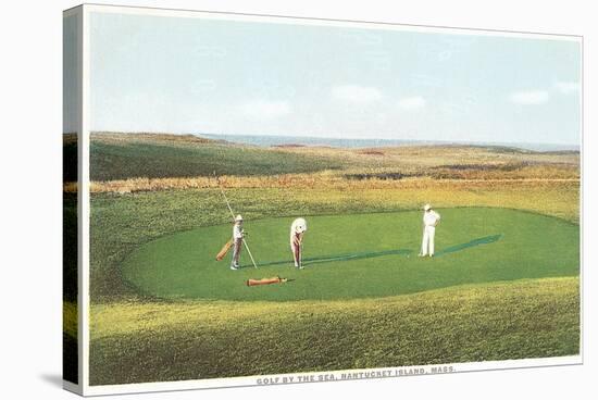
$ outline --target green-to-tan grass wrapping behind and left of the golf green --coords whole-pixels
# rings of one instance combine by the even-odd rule
[[[439,208],[518,208],[562,216],[571,222],[578,218],[578,186],[560,183],[514,187],[422,185],[414,188],[381,190],[319,188],[296,190],[292,196],[289,196],[289,190],[283,188],[248,188],[227,189],[227,193],[233,209],[242,212],[248,220],[288,216],[291,213],[321,215],[396,212],[414,210],[425,202],[432,202]],[[91,302],[112,302],[139,297],[135,288],[125,284],[122,276],[122,263],[139,246],[177,232],[220,225],[229,218],[228,210],[217,189],[127,195],[94,193],[90,220]],[[313,232],[310,232],[307,246],[313,241],[309,239],[312,234]],[[418,230],[414,239],[420,234]],[[222,240],[223,238],[219,237],[219,241]],[[441,236],[438,240],[438,246],[444,246]],[[217,249],[221,246],[222,242],[219,242]],[[287,246],[283,245],[283,251],[286,251]],[[309,253],[309,247],[306,251]],[[210,252],[213,252],[213,249]]]

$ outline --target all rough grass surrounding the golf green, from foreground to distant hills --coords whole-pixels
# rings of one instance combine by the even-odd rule
[[[215,165],[223,167],[219,174],[238,175],[239,155],[256,175],[227,176],[225,185],[233,208],[248,220],[414,210],[432,202],[520,209],[577,223],[578,153],[297,147],[261,149],[267,154],[253,157],[222,142],[132,138],[103,136],[97,142],[102,151],[91,160],[92,174],[99,174],[94,178],[110,180],[94,183],[91,196],[92,385],[578,353],[575,277],[383,299],[246,304],[144,297],[126,285],[121,270],[150,240],[227,222],[215,182],[205,177]],[[224,147],[224,157],[214,151]],[[208,148],[209,162],[197,162]],[[97,155],[104,159],[98,162]],[[147,166],[162,157],[158,167]],[[291,162],[279,164],[281,158]],[[500,166],[507,164],[519,166]],[[435,179],[434,172],[452,175]],[[415,178],[344,176],[386,173]]]

